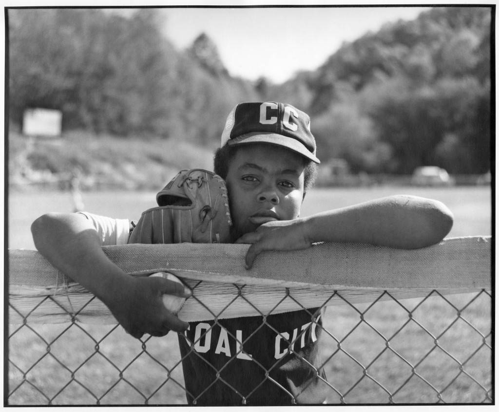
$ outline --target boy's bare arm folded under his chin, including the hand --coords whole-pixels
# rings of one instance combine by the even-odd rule
[[[296,220],[272,221],[236,243],[252,243],[249,269],[263,250],[298,250],[315,242],[370,243],[415,249],[441,241],[451,230],[453,215],[443,203],[415,196],[391,196],[329,210]]]

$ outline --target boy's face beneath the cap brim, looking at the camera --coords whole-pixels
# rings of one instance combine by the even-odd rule
[[[268,144],[241,146],[226,183],[234,223],[233,240],[265,222],[298,217],[303,201],[303,158]]]

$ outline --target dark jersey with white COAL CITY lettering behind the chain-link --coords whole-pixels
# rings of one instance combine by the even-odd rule
[[[316,311],[191,322],[179,334],[188,403],[323,403],[322,316]]]

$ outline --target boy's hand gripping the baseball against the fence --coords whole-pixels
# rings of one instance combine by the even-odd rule
[[[112,301],[105,302],[127,333],[140,339],[145,333],[165,336],[170,330],[182,332],[189,327],[169,312],[163,294],[187,298],[191,291],[184,285],[161,277],[132,277],[116,288]]]

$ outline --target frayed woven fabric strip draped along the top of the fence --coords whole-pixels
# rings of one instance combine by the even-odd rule
[[[105,246],[132,276],[168,271],[194,293],[186,321],[267,315],[322,305],[491,290],[490,236],[444,239],[415,250],[323,243],[307,250],[264,252],[244,269],[248,245]],[[106,306],[53,268],[37,251],[9,250],[9,323],[114,324]]]

